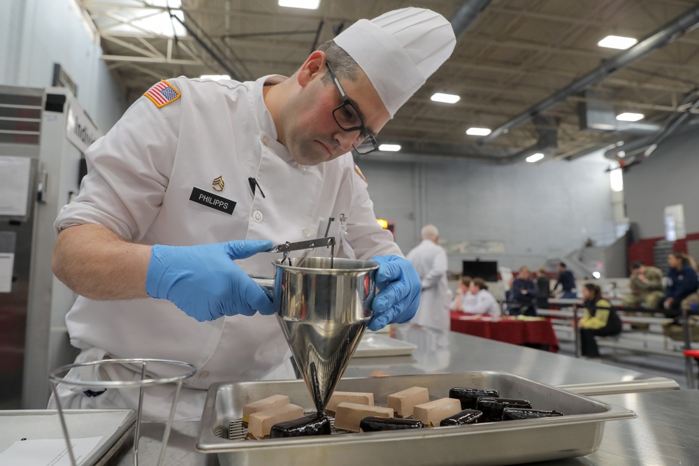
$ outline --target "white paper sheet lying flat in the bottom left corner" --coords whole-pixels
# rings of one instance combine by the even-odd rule
[[[101,439],[102,437],[71,439],[75,463],[80,465],[80,461],[89,455]],[[0,465],[71,466],[71,456],[64,439],[17,440],[0,453]]]

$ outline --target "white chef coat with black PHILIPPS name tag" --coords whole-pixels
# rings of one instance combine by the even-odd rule
[[[60,212],[57,231],[101,224],[126,240],[149,245],[244,239],[278,244],[323,237],[329,217],[336,219],[331,234],[336,233],[340,214],[345,214],[357,259],[401,255],[391,233],[377,224],[352,154],[300,166],[277,141],[262,89],[265,82],[284,79],[180,77],[168,80],[182,94],[179,99],[157,108],[142,96],[85,153],[89,173],[78,197]],[[217,177],[224,181],[222,191],[212,188]],[[248,177],[259,183],[256,194]],[[194,187],[234,201],[233,213],[190,201]],[[312,252],[312,256],[329,255],[329,249]],[[271,277],[271,262],[279,257],[261,253],[236,263],[248,274]],[[232,316],[200,323],[168,300],[97,301],[81,296],[66,324],[71,342],[83,349],[82,358],[92,357],[85,356],[86,351],[97,348],[112,358],[194,364],[199,372],[185,382],[178,418],[201,414],[206,393],[202,390],[214,381],[293,377],[293,372],[280,370],[288,365],[290,352],[275,316]],[[171,374],[168,367],[149,369],[156,376]],[[73,407],[99,407],[101,399],[106,397],[78,397]],[[150,417],[166,418],[168,408],[163,402]]]

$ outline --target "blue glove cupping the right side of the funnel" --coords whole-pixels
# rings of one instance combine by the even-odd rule
[[[400,256],[377,256],[371,259],[379,264],[374,298],[374,312],[369,330],[381,330],[389,323],[407,322],[415,316],[420,304],[422,282],[410,261]]]

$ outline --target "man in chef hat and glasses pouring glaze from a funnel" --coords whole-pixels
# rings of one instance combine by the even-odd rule
[[[280,256],[264,251],[322,238],[330,217],[340,255],[380,264],[369,328],[411,319],[419,277],[377,224],[351,151],[377,147],[375,135],[455,43],[444,17],[404,8],[354,23],[290,78],[154,85],[89,147],[80,194],[55,223],[53,269],[80,294],[66,316],[76,362],[194,364],[179,419],[199,418],[214,381],[294,378],[273,305],[248,274],[273,275]],[[140,374],[107,365],[69,377]],[[144,416],[167,418],[174,390],[149,388]],[[71,408],[138,406],[133,389],[62,385],[59,395]]]

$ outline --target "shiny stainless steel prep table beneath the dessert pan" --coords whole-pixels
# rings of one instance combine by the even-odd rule
[[[549,385],[568,386],[603,402],[633,409],[639,417],[607,423],[602,446],[596,453],[548,462],[547,466],[699,464],[699,446],[694,445],[690,433],[696,425],[696,414],[685,409],[699,405],[699,391],[672,390],[677,385],[669,379],[454,332],[445,334],[405,326],[396,330],[394,336],[417,345],[412,356],[354,358],[345,377],[368,377],[377,371],[398,375],[498,370]],[[663,391],[598,395],[649,390]],[[142,464],[157,462],[163,428],[163,423],[143,424]],[[175,422],[165,464],[219,465],[216,455],[195,451],[198,432],[198,422]],[[130,451],[111,464],[131,466]]]

